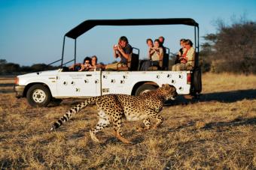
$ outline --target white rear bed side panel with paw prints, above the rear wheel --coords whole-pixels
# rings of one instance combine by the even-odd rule
[[[102,72],[102,94],[132,94],[134,87],[140,82],[152,82],[161,86],[174,85],[178,94],[189,94],[187,71],[134,71],[134,72]],[[136,90],[136,89],[135,89]]]

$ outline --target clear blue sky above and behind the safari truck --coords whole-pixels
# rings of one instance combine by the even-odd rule
[[[50,64],[61,58],[63,37],[87,19],[192,18],[203,36],[216,33],[216,20],[230,24],[245,17],[256,22],[256,0],[0,0],[0,59],[21,66]],[[164,45],[177,52],[179,40],[194,41],[194,28],[187,25],[96,26],[78,37],[77,60],[97,55],[105,64],[114,61],[112,46],[120,36],[140,49],[146,58],[146,39],[166,38]],[[64,62],[74,58],[74,40],[66,39]]]

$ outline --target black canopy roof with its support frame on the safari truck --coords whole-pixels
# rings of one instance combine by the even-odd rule
[[[169,18],[169,19],[90,19],[81,24],[77,25],[72,30],[68,31],[63,38],[62,46],[62,58],[54,61],[51,64],[61,61],[60,66],[68,64],[69,62],[74,61],[76,63],[76,53],[77,53],[77,39],[79,36],[89,31],[91,28],[97,25],[112,25],[112,26],[127,26],[127,25],[190,25],[194,27],[194,44],[196,49],[195,56],[195,68],[198,67],[199,61],[199,25],[194,19],[190,18]],[[75,50],[74,50],[74,59],[63,63],[64,57],[64,48],[66,37],[72,38],[75,40]]]

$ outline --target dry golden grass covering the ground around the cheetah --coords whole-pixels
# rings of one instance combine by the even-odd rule
[[[256,76],[203,75],[200,101],[179,97],[163,109],[159,129],[135,133],[139,122],[124,123],[134,145],[115,139],[111,127],[99,134],[104,144],[93,143],[95,106],[49,133],[77,100],[32,108],[11,83],[0,79],[1,169],[256,169]]]

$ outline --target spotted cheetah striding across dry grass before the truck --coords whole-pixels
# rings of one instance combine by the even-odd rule
[[[100,142],[96,133],[114,124],[114,136],[123,143],[130,141],[123,137],[121,131],[122,118],[127,121],[143,120],[145,127],[140,127],[137,131],[155,129],[163,123],[163,118],[158,113],[163,109],[163,103],[166,100],[174,100],[177,92],[172,85],[162,85],[156,90],[147,91],[139,96],[126,94],[105,94],[99,97],[90,97],[77,106],[72,107],[56,121],[50,130],[56,130],[63,123],[68,121],[72,115],[84,109],[88,104],[94,102],[97,106],[99,121],[96,126],[90,130],[90,137],[94,142]],[[150,118],[156,119],[156,124],[151,127]]]

